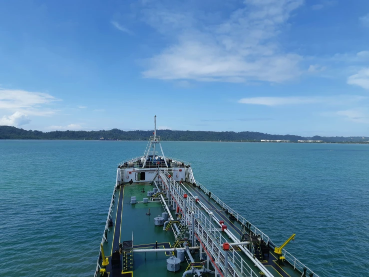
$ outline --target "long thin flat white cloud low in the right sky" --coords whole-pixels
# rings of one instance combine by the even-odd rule
[[[357,95],[337,95],[337,96],[287,96],[287,97],[249,97],[238,100],[243,104],[256,104],[267,106],[278,105],[294,105],[294,104],[312,104],[312,103],[325,103],[325,104],[347,104],[349,102],[358,102],[362,99],[366,99],[364,96]]]

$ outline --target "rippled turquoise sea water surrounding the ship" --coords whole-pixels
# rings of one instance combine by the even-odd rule
[[[369,275],[369,145],[162,143],[320,276]],[[91,276],[118,162],[143,141],[0,140],[0,275]],[[213,170],[215,168],[215,170]]]

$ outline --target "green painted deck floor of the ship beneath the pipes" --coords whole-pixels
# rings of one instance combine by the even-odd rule
[[[185,190],[194,196],[198,196],[200,201],[211,209],[214,214],[224,220],[225,224],[236,237],[240,237],[242,226],[237,220],[230,220],[229,214],[208,195],[206,195],[198,186],[193,186],[190,183],[184,182]],[[181,276],[188,269],[186,260],[181,263],[181,269],[176,273],[170,272],[166,268],[166,259],[171,255],[169,251],[162,252],[134,252],[133,255],[133,270],[122,270],[122,255],[120,256],[120,264],[114,261],[112,256],[118,251],[119,243],[129,241],[133,238],[133,248],[171,248],[175,243],[175,237],[171,228],[167,231],[163,230],[163,226],[156,226],[154,218],[161,216],[164,208],[160,201],[149,201],[148,203],[141,202],[147,197],[147,191],[152,190],[151,182],[141,183],[125,183],[117,187],[114,192],[114,207],[112,212],[113,224],[107,231],[107,242],[103,244],[105,256],[109,259],[109,264],[106,265],[105,276],[172,276],[176,274]],[[136,196],[136,204],[131,204],[131,196]],[[150,197],[148,197],[150,199]],[[147,215],[147,213],[150,213]],[[172,212],[175,218],[175,211]],[[233,242],[233,241],[230,241]],[[237,246],[234,246],[238,253],[244,258],[255,272],[259,272],[258,268]],[[115,254],[118,256],[117,254]],[[288,262],[283,265],[277,263],[278,258],[273,250],[270,254],[265,255],[265,260],[260,260],[262,264],[270,271],[273,276],[283,277],[300,277],[301,272],[294,270]],[[199,261],[198,255],[194,255],[195,260]],[[119,262],[118,262],[119,263]],[[213,272],[214,273],[214,272]],[[209,273],[211,274],[211,273]]]

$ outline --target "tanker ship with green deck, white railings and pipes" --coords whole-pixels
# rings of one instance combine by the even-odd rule
[[[143,156],[117,166],[94,276],[317,276],[164,155],[154,132]]]

